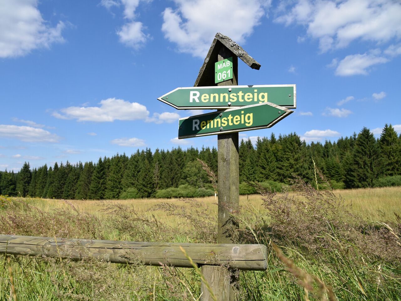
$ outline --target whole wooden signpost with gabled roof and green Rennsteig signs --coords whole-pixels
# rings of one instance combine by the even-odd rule
[[[219,244],[238,242],[238,132],[269,128],[296,108],[296,85],[238,85],[238,57],[252,69],[260,64],[229,37],[217,33],[194,87],[176,88],[158,100],[176,109],[217,109],[180,118],[178,138],[217,134]],[[216,86],[217,85],[217,86]],[[201,271],[219,301],[238,300],[237,276],[227,268],[203,265]],[[212,281],[213,280],[213,281]],[[204,283],[201,300],[212,297]]]

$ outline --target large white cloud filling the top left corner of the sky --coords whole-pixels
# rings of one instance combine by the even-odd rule
[[[37,8],[38,0],[2,0],[0,5],[0,57],[19,57],[33,49],[64,42],[59,22],[51,27]]]

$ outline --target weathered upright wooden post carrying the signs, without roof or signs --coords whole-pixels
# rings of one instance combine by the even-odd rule
[[[233,79],[218,83],[219,86],[238,85],[238,57],[221,45],[217,61],[233,57]],[[218,244],[238,242],[238,222],[233,214],[239,209],[238,133],[217,136],[218,171]],[[202,266],[201,271],[218,301],[239,300],[235,270],[224,267]],[[211,301],[209,291],[201,285],[202,301]]]

